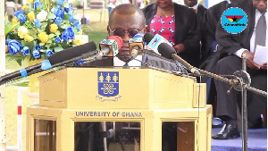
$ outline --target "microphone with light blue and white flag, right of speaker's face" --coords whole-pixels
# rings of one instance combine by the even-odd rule
[[[147,46],[155,51],[155,53],[158,53],[158,46],[162,43],[166,43],[169,46],[172,46],[172,44],[162,36],[156,34],[155,36],[151,32],[147,32],[144,35],[144,41],[147,42]]]

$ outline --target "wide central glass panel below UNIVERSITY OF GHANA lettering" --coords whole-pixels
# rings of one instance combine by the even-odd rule
[[[139,151],[140,122],[74,122],[74,150]]]

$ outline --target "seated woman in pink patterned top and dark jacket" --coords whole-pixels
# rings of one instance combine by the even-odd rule
[[[194,11],[172,0],[156,0],[143,12],[148,29],[166,38],[177,54],[193,66],[200,57],[200,38],[197,34],[197,16]]]

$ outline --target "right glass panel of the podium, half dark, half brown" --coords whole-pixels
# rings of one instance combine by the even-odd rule
[[[195,122],[162,122],[162,151],[194,151]]]

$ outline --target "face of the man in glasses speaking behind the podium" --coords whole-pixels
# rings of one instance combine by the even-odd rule
[[[120,36],[122,38],[123,45],[119,50],[117,57],[123,62],[130,61],[130,46],[129,40],[133,38],[138,32],[147,32],[147,27],[142,25],[140,16],[138,13],[132,15],[124,15],[113,13],[112,22],[107,27],[109,36]]]

